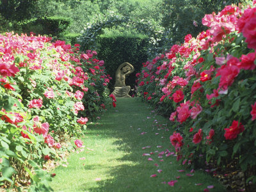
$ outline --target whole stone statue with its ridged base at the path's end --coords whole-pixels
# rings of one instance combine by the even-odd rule
[[[125,77],[134,72],[134,67],[130,63],[122,63],[116,70],[116,82],[113,95],[116,97],[131,97],[128,93],[131,86],[125,85]]]

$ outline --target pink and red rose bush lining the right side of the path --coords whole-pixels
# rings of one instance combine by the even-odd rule
[[[255,4],[205,15],[207,31],[187,35],[136,75],[141,99],[176,127],[177,160],[195,168],[232,164],[251,176],[247,182],[256,182]]]

